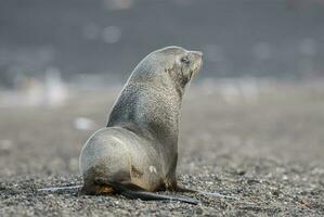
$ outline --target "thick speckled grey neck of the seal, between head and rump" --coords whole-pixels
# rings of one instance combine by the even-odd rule
[[[163,144],[177,145],[181,100],[182,93],[173,86],[128,84],[113,107],[107,127],[125,127]]]

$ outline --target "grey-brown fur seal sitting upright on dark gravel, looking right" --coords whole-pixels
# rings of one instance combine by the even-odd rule
[[[183,191],[176,179],[179,115],[185,87],[202,67],[202,58],[199,51],[166,47],[138,64],[107,126],[82,148],[82,193],[196,202],[152,192]]]

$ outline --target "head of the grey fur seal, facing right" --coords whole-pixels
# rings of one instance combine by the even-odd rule
[[[203,65],[203,52],[166,47],[144,58],[131,76],[133,80],[173,86],[183,91]]]

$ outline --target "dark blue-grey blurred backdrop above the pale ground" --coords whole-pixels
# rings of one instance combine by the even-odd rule
[[[0,86],[124,82],[144,55],[170,44],[204,51],[198,79],[323,77],[324,3],[2,0]]]

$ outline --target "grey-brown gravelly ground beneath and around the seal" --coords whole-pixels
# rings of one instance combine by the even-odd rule
[[[323,86],[244,87],[185,95],[179,182],[234,197],[185,194],[199,205],[36,191],[81,183],[80,149],[118,88],[74,91],[61,107],[1,108],[0,216],[323,216]]]

